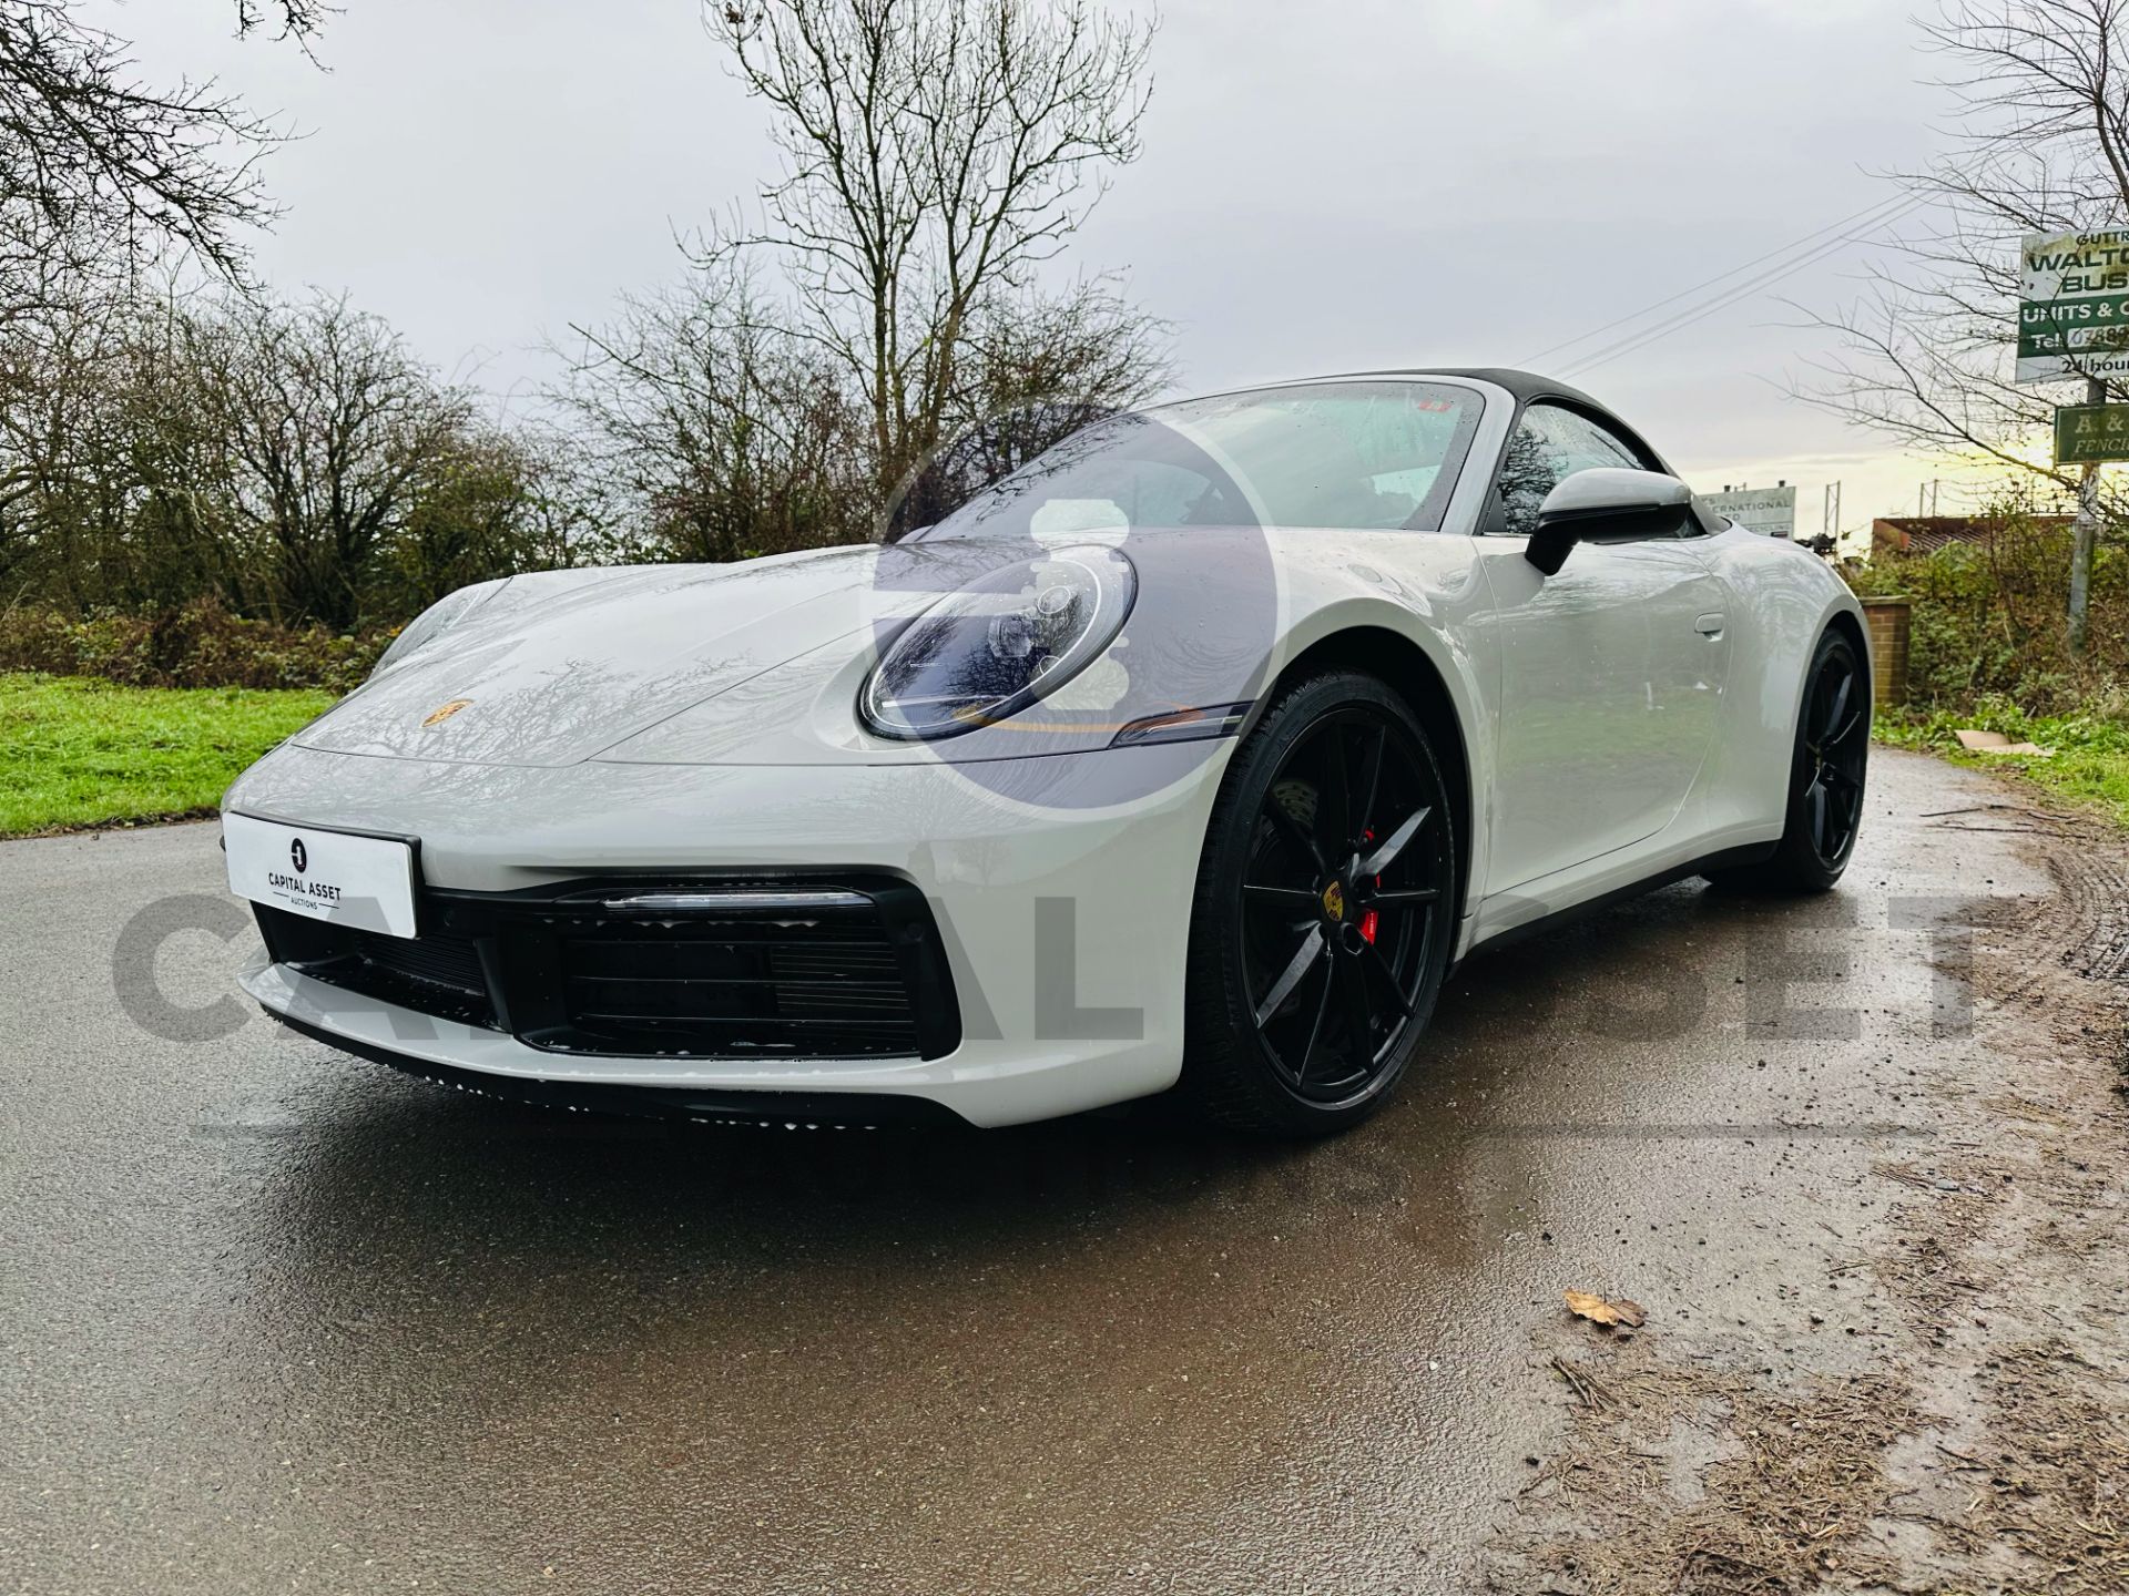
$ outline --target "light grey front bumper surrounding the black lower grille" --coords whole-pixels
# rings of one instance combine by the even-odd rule
[[[977,1126],[1077,1113],[1160,1092],[1182,1068],[1190,900],[1231,751],[1154,745],[1005,760],[971,777],[952,764],[524,768],[283,745],[226,800],[419,836],[424,885],[458,892],[690,870],[901,877],[928,900],[954,977],[960,1043],[941,1058],[562,1055],[264,955],[241,979],[313,1036],[453,1083],[517,1083],[513,1096],[590,1102],[637,1087],[703,1117],[760,1104],[758,1117],[811,1119],[811,1102],[879,1094]],[[905,1117],[879,1107],[879,1119]]]

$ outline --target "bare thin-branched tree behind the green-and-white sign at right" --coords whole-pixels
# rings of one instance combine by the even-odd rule
[[[1880,270],[1863,302],[1818,317],[1850,353],[1801,396],[1912,447],[2001,466],[2042,496],[2082,489],[2067,604],[2082,647],[2093,526],[2125,504],[2118,492],[2101,502],[2097,475],[2033,453],[2065,392],[2012,381],[2018,238],[2129,226],[2129,0],[1946,0],[1925,34],[1948,64],[1957,136],[1899,181],[1937,223],[1901,245],[1903,264]]]

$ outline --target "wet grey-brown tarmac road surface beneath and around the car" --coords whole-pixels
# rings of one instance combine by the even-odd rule
[[[1842,894],[1478,960],[1305,1149],[675,1132],[162,1041],[115,968],[204,1002],[249,932],[149,987],[121,928],[217,894],[213,828],[0,845],[0,1590],[1469,1590],[1561,1287],[1718,1336],[1931,1134],[1888,900],[2046,890],[1910,819],[1988,796],[1880,751]]]

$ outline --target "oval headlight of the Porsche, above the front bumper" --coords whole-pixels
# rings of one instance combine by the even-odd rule
[[[1099,660],[1139,579],[1116,549],[1054,549],[992,570],[896,634],[858,694],[879,736],[958,736],[1011,719]]]

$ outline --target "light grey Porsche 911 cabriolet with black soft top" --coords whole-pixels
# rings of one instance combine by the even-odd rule
[[[1365,1117],[1450,964],[1831,887],[1861,611],[1509,370],[1099,421],[898,543],[445,598],[224,802],[245,987],[494,1094]]]

